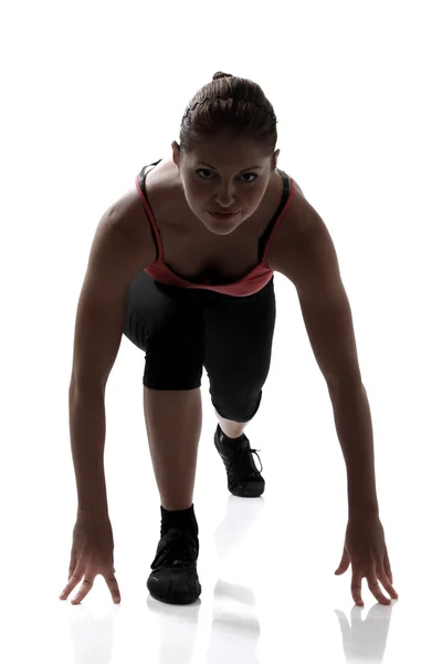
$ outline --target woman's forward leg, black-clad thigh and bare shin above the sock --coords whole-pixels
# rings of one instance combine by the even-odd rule
[[[193,502],[201,436],[203,320],[186,289],[133,281],[125,335],[146,352],[144,411],[154,473],[167,510]]]

